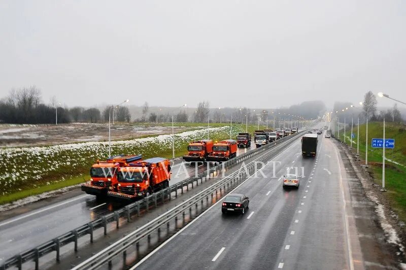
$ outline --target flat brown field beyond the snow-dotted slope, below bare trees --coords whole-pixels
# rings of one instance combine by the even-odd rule
[[[175,132],[193,128],[177,126]],[[114,124],[111,138],[129,140],[143,136],[172,133],[168,126],[140,126]],[[0,147],[44,146],[79,142],[106,142],[109,140],[109,124],[72,123],[58,125],[12,126],[0,125]]]

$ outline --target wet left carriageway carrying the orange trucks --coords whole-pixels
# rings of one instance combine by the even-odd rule
[[[237,155],[254,148],[254,143],[251,144],[251,148],[238,148]],[[195,174],[195,166],[182,161],[181,158],[175,159],[170,185]],[[198,173],[204,172],[206,165],[198,165],[197,169]],[[2,213],[0,263],[19,252],[36,247],[127,204],[119,201],[96,200],[95,196],[75,189],[60,197],[48,198]]]

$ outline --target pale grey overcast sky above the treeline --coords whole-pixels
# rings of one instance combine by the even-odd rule
[[[0,97],[36,85],[67,106],[405,100],[405,3],[2,0]]]

